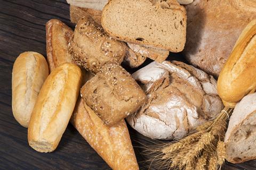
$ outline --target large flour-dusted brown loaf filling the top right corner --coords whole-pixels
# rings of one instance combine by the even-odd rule
[[[195,0],[186,10],[186,59],[217,77],[237,38],[256,18],[256,1]]]

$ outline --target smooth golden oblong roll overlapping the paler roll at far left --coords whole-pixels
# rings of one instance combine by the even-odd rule
[[[39,152],[55,150],[67,128],[81,87],[81,70],[65,63],[43,84],[28,127],[29,145]]]

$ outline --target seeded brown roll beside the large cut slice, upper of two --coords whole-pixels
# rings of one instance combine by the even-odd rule
[[[78,21],[69,44],[73,60],[93,74],[107,62],[120,64],[125,52],[125,44],[110,38],[90,16]]]

